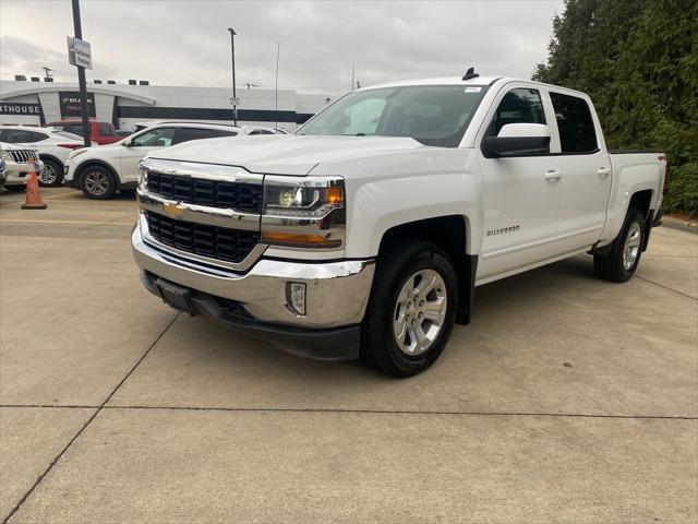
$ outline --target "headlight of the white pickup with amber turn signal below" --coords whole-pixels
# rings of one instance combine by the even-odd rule
[[[339,177],[264,177],[262,240],[294,248],[340,248],[345,194]]]

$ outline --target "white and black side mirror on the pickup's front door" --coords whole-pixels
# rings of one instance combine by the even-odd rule
[[[544,123],[507,123],[496,136],[482,140],[488,158],[550,153],[550,128]]]

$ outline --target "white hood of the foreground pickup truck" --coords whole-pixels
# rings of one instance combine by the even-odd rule
[[[253,135],[194,140],[149,158],[243,167],[251,172],[305,176],[317,164],[424,147],[410,138]]]

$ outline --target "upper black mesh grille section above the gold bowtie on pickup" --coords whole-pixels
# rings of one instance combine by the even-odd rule
[[[227,182],[149,172],[149,192],[188,204],[226,207],[242,213],[262,213],[262,184]]]

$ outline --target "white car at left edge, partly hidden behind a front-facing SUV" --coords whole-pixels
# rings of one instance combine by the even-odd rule
[[[67,131],[29,126],[0,127],[0,142],[34,148],[44,165],[38,174],[41,186],[63,183],[63,166],[71,151],[84,147],[83,139]]]

